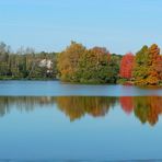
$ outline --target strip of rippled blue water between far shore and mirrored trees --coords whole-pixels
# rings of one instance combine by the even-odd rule
[[[0,95],[86,95],[139,96],[162,95],[162,89],[139,89],[123,85],[79,85],[58,81],[0,81]]]

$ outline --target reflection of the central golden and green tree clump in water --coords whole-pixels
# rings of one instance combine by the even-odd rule
[[[58,108],[61,109],[70,120],[81,118],[85,114],[93,117],[105,116],[111,107],[114,107],[116,97],[101,96],[60,96],[57,97]]]

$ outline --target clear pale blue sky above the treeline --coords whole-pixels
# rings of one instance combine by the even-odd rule
[[[162,0],[0,0],[0,40],[60,51],[70,40],[111,53],[162,47]]]

